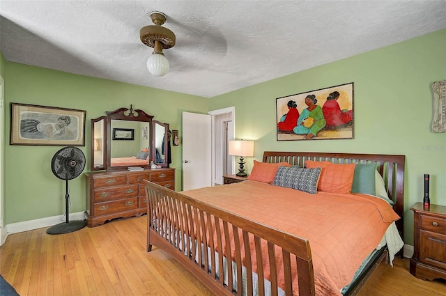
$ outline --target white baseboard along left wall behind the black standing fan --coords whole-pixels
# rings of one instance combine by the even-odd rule
[[[83,220],[84,212],[73,212],[70,213],[69,217],[71,220]],[[45,217],[40,219],[34,219],[29,221],[22,221],[17,223],[11,223],[6,225],[6,233],[8,235],[12,233],[21,233],[23,231],[32,231],[33,229],[53,226],[66,221],[65,215],[59,215],[54,217]]]

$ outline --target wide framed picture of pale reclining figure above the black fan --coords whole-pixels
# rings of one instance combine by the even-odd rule
[[[85,146],[86,111],[10,103],[10,145]]]

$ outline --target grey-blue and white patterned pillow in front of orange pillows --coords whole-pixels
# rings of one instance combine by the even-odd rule
[[[298,189],[316,194],[321,168],[304,169],[299,166],[279,166],[272,185]]]

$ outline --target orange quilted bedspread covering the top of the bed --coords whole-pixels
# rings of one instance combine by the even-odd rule
[[[373,196],[307,194],[249,180],[183,194],[307,238],[316,295],[341,295],[339,290],[351,282],[387,227],[399,219],[386,201]]]

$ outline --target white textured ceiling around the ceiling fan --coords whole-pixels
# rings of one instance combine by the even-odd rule
[[[176,45],[153,77],[139,29]],[[446,28],[446,1],[6,1],[7,61],[213,97]]]

